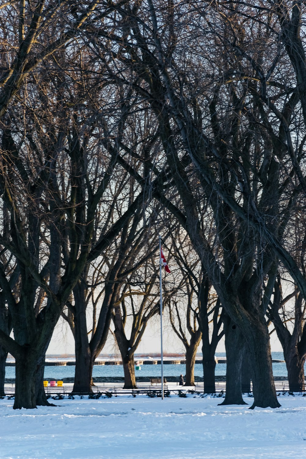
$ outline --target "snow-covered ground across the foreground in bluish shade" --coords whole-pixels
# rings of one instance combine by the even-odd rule
[[[13,400],[0,400],[0,458],[306,457],[306,397],[280,396],[278,409],[217,406],[221,401],[76,397],[55,401],[56,408],[13,410]]]

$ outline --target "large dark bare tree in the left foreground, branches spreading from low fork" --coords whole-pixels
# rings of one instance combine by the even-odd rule
[[[80,110],[83,59],[78,47],[74,51],[70,60],[60,53],[40,79],[33,75],[32,90],[28,85],[2,129],[0,187],[9,231],[0,242],[13,254],[21,279],[17,299],[7,276],[1,276],[14,330],[14,340],[0,330],[1,345],[16,358],[14,408],[36,406],[35,380],[42,388],[45,351],[63,305],[88,261],[106,250],[142,202],[140,192],[120,218],[106,220],[102,227],[95,218],[117,161],[115,154],[101,152],[100,114],[93,114],[92,107]],[[59,62],[67,70],[71,59],[73,70],[59,72]],[[38,102],[43,96],[48,104]],[[63,106],[68,96],[70,102]],[[36,311],[41,290],[45,299]]]

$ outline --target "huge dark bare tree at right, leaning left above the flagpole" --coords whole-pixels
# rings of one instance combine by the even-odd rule
[[[274,190],[278,163],[272,161],[269,186],[262,194],[255,176],[260,177],[264,171],[257,161],[254,131],[248,127],[250,117],[244,124],[240,123],[247,92],[240,91],[233,83],[228,83],[228,86],[218,84],[218,81],[224,82],[224,73],[232,72],[232,66],[238,65],[242,73],[240,58],[235,58],[234,53],[232,61],[225,58],[226,48],[219,38],[219,31],[224,35],[227,25],[222,15],[211,9],[211,22],[204,34],[205,40],[201,42],[198,30],[199,24],[202,27],[202,11],[198,4],[197,11],[191,11],[187,2],[181,2],[179,6],[160,6],[158,2],[153,5],[148,0],[146,6],[138,11],[138,16],[135,13],[131,15],[128,7],[122,8],[122,24],[124,22],[126,27],[128,21],[131,32],[121,36],[123,54],[117,54],[122,67],[129,66],[129,71],[138,74],[141,80],[137,88],[139,95],[143,97],[144,104],[150,103],[158,122],[164,151],[162,164],[167,164],[168,175],[163,176],[161,168],[156,170],[156,160],[152,157],[152,171],[160,177],[153,196],[160,199],[188,232],[223,308],[245,336],[252,361],[253,407],[277,407],[269,335],[261,309],[263,279],[272,263],[271,252],[267,241],[262,240],[250,222],[249,194],[245,194],[243,185],[244,180],[247,180],[245,185],[249,185],[250,181],[254,184],[250,196],[255,196],[261,213],[269,209],[269,215],[275,218],[278,215]],[[203,2],[203,6],[206,9],[207,4]],[[183,17],[184,20],[179,19]],[[143,23],[150,26],[143,29],[139,26]],[[166,25],[167,33],[160,34],[161,23]],[[230,33],[228,28],[226,34]],[[130,36],[133,36],[133,44],[129,42]],[[193,49],[197,50],[195,55],[191,52]],[[207,49],[210,49],[209,53]],[[211,60],[211,49],[215,53],[214,60],[218,62],[217,68]],[[199,52],[200,67],[197,66]],[[203,68],[203,62],[207,69],[206,78],[200,78],[198,72],[199,68]],[[128,83],[128,70],[124,72],[121,71],[121,81]],[[254,110],[259,110],[256,100],[253,106]],[[246,164],[240,167],[241,151],[248,158],[245,160],[247,173]],[[180,199],[179,204],[167,196],[167,179],[170,176],[171,185]],[[207,204],[213,212],[217,245],[210,246],[205,232],[201,230],[198,190],[201,190],[202,196],[207,196]],[[275,232],[276,227],[273,234]],[[250,297],[245,297],[246,289]]]

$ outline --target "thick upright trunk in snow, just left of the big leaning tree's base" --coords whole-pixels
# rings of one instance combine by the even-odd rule
[[[226,316],[223,319],[226,350],[226,392],[220,405],[246,405],[241,394],[241,368],[245,339],[236,324]]]

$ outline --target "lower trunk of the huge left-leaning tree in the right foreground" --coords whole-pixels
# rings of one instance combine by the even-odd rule
[[[254,403],[251,409],[256,406],[278,408],[280,404],[274,386],[270,337],[263,319],[258,319],[256,324],[249,328],[245,339],[248,341],[253,382]]]

